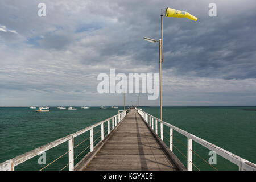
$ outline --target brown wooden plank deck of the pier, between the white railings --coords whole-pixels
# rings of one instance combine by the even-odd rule
[[[146,125],[138,111],[131,110],[91,158],[77,170],[186,170],[162,140]],[[167,147],[166,147],[167,148]],[[89,160],[89,161],[88,161]]]

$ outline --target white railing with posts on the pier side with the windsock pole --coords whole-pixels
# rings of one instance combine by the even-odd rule
[[[137,108],[135,108],[138,110]],[[161,121],[160,119],[142,111],[138,110],[138,113],[141,115],[141,117],[144,119],[144,121],[147,123],[148,126],[154,130],[154,121],[155,121],[155,133],[158,135],[158,122],[160,123],[160,138],[163,140],[163,125],[170,128],[170,150],[172,151],[173,145],[173,130],[177,131],[178,133],[184,135],[187,137],[187,168],[189,171],[192,171],[192,141],[195,141],[196,143],[199,143],[201,146],[208,148],[211,151],[216,152],[216,154],[222,156],[223,158],[229,160],[230,162],[236,164],[239,167],[240,171],[256,171],[256,164],[249,162],[248,160],[245,160],[243,158],[240,158],[240,156],[234,155],[229,151],[224,150],[223,148],[220,148],[212,143],[207,142],[204,139],[201,139],[199,137],[196,137],[195,135],[192,135],[188,133],[187,131],[181,130],[176,126],[171,125],[170,123]]]

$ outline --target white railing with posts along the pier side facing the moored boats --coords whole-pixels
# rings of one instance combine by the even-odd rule
[[[47,151],[47,150],[49,150],[49,149],[51,149],[53,147],[59,146],[59,144],[67,142],[67,141],[68,141],[68,152],[65,153],[65,154],[68,153],[68,164],[67,164],[67,166],[69,166],[69,171],[73,171],[74,170],[74,148],[75,148],[74,147],[74,138],[79,136],[79,135],[81,135],[81,134],[83,134],[83,133],[85,133],[86,131],[90,131],[90,137],[89,137],[90,138],[90,152],[92,152],[93,149],[94,149],[94,141],[96,141],[96,140],[93,140],[93,135],[94,135],[93,134],[93,129],[94,129],[94,127],[97,127],[97,126],[101,125],[101,136],[100,137],[101,137],[101,141],[102,141],[102,140],[104,140],[104,138],[106,136],[108,136],[108,135],[106,135],[104,137],[104,123],[108,122],[108,131],[105,131],[105,133],[108,132],[108,134],[109,134],[110,131],[113,130],[118,125],[118,123],[123,120],[123,118],[125,118],[125,116],[126,116],[126,111],[122,111],[122,112],[119,111],[117,115],[114,115],[113,117],[105,119],[104,121],[101,121],[101,122],[98,122],[98,123],[96,123],[94,125],[86,127],[85,129],[77,131],[76,133],[70,134],[70,135],[68,135],[66,137],[57,139],[57,140],[55,140],[55,141],[53,141],[51,143],[48,143],[48,144],[46,144],[46,145],[44,145],[42,147],[36,148],[36,149],[34,149],[34,150],[30,151],[30,152],[27,152],[25,154],[16,156],[13,159],[6,160],[5,162],[0,164],[0,171],[14,171],[14,167],[15,166],[25,162],[28,159],[34,158],[35,156],[37,156],[39,154],[42,154],[43,152],[45,152],[45,151]],[[111,119],[112,119],[112,129],[110,129],[110,120]],[[62,155],[62,156],[64,156],[64,155]],[[62,156],[60,156],[59,158],[61,158]],[[59,159],[59,158],[57,158],[57,159]],[[55,162],[56,160],[54,160],[53,162]],[[65,167],[67,167],[67,166],[65,166]]]

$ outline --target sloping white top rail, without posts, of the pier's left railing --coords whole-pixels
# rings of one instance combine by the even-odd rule
[[[43,152],[45,152],[45,151],[47,151],[47,150],[49,150],[49,149],[51,149],[53,147],[59,146],[59,144],[61,144],[61,143],[67,142],[67,141],[69,141],[71,139],[73,140],[73,138],[75,138],[75,137],[85,133],[86,131],[92,130],[94,127],[100,126],[102,123],[110,121],[110,119],[116,118],[118,116],[120,117],[121,115],[124,115],[125,113],[126,113],[126,111],[123,111],[122,113],[118,113],[118,114],[116,114],[116,115],[114,115],[114,116],[112,116],[112,117],[110,117],[108,119],[105,119],[103,121],[95,123],[94,125],[90,125],[90,126],[86,127],[85,129],[79,130],[76,133],[69,134],[69,135],[67,135],[65,137],[62,137],[60,139],[57,139],[57,140],[55,140],[53,142],[47,143],[47,144],[45,144],[45,145],[43,145],[41,147],[35,148],[34,150],[26,152],[26,153],[24,153],[22,155],[18,155],[15,158],[6,160],[5,162],[0,163],[0,171],[1,170],[14,169],[14,166],[17,166],[20,163],[23,163],[23,162],[25,162],[28,159],[34,158],[35,156],[37,156],[39,154],[42,154]],[[121,120],[119,122],[121,122]]]

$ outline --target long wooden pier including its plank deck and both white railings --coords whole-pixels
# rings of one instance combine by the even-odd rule
[[[159,128],[158,125],[160,125]],[[99,126],[100,130],[97,131],[96,129],[98,129]],[[167,134],[164,134],[163,126],[168,127],[169,132]],[[96,136],[94,135],[100,131],[100,137],[97,136],[98,138],[95,139],[94,137]],[[175,147],[173,143],[173,138],[175,138],[173,131],[187,137],[186,167],[172,152],[173,147]],[[89,146],[82,150],[80,154],[74,156],[74,150],[77,150],[77,146],[74,146],[74,140],[84,133],[89,133],[89,137],[82,140],[77,146],[84,142],[88,142]],[[166,143],[163,142],[163,138],[168,140],[168,147]],[[97,141],[98,139],[101,140]],[[196,154],[192,148],[193,142],[200,144],[210,151],[216,152],[216,154],[222,156],[222,158],[236,164],[241,171],[256,171],[256,164],[137,108],[129,111],[119,110],[118,114],[104,121],[95,123],[94,125],[45,144],[39,148],[35,148],[13,159],[6,160],[0,163],[0,171],[14,171],[15,167],[19,164],[51,148],[59,146],[62,143],[68,144],[68,151],[56,157],[55,160],[48,163],[40,170],[47,168],[64,155],[68,155],[67,165],[60,170],[67,167],[69,171],[192,171],[193,166],[198,169],[192,159],[192,153],[194,152]],[[87,152],[85,152],[86,150]],[[84,155],[84,157],[75,164],[74,159],[80,155]],[[185,154],[183,155],[185,156]],[[205,159],[202,159],[202,161],[207,163]],[[213,168],[216,169],[215,167]]]

